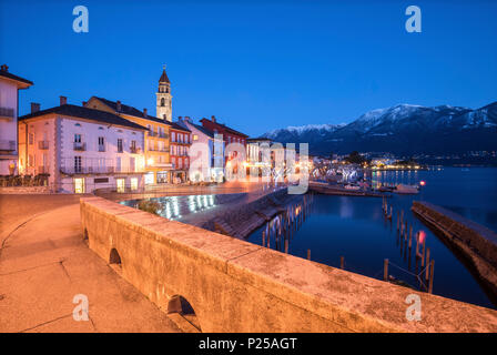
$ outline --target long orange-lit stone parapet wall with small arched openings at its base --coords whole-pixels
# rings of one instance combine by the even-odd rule
[[[203,332],[497,332],[497,312],[368,278],[100,197],[81,199],[89,246],[166,311],[184,297]],[[115,252],[114,254],[115,261]],[[407,321],[406,297],[422,301]]]

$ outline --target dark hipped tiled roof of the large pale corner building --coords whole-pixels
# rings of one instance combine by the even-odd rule
[[[113,113],[110,113],[106,111],[95,110],[95,109],[88,109],[84,106],[77,106],[73,104],[63,104],[61,106],[54,106],[51,109],[41,110],[41,111],[34,112],[34,113],[26,114],[23,116],[20,116],[19,121],[37,118],[37,116],[49,114],[49,113],[63,114],[63,115],[69,115],[69,116],[73,116],[73,118],[97,121],[97,122],[101,122],[101,123],[123,125],[123,126],[129,126],[132,129],[145,130],[145,128],[141,126],[140,124],[128,121],[123,118],[120,118],[116,114],[113,114]]]

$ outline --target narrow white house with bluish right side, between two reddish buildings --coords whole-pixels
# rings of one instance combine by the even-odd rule
[[[191,181],[215,181],[223,182],[224,178],[224,140],[222,134],[215,134],[206,128],[195,124],[189,116],[180,118],[178,124],[189,129],[192,132],[192,146],[190,149],[190,165],[196,166],[190,175]],[[201,159],[196,143],[204,144],[207,148],[205,162],[203,166],[199,163]],[[192,153],[193,152],[193,153]],[[195,153],[196,152],[196,153]]]

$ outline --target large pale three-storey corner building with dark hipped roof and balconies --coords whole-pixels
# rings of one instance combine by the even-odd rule
[[[19,168],[49,174],[57,192],[119,192],[143,186],[145,128],[110,112],[67,104],[19,118]]]

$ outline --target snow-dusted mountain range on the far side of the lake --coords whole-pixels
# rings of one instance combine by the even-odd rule
[[[348,124],[288,126],[263,136],[282,143],[308,142],[317,154],[496,151],[497,102],[477,110],[398,104],[369,111]]]

